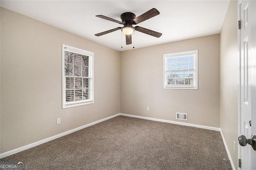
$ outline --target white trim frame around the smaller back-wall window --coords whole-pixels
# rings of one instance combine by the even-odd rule
[[[194,86],[193,87],[188,87],[188,86],[166,86],[166,58],[167,57],[176,57],[176,56],[182,56],[182,55],[195,55],[195,65],[194,65],[194,69],[195,69],[195,79],[194,79]],[[177,53],[168,53],[168,54],[164,54],[164,62],[163,62],[163,66],[164,66],[164,82],[163,82],[163,86],[164,89],[193,89],[193,90],[197,90],[198,89],[198,50],[192,50],[192,51],[183,51],[183,52],[177,52]]]

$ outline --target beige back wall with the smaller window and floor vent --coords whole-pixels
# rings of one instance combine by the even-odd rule
[[[220,127],[219,34],[122,51],[121,113]],[[163,89],[163,54],[198,49],[198,90]],[[147,111],[146,107],[150,107]]]

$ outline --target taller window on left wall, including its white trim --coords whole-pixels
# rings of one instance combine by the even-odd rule
[[[94,103],[94,53],[62,44],[62,108]]]

